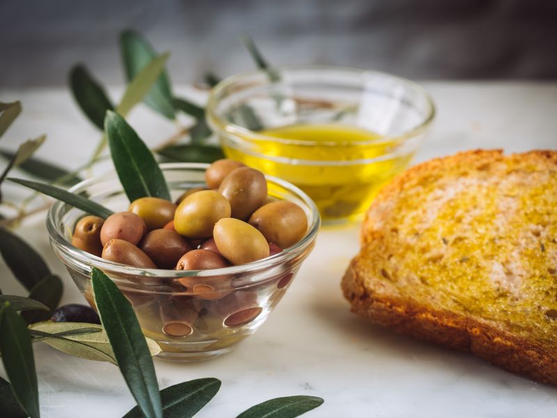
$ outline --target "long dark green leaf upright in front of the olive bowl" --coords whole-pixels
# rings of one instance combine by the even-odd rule
[[[120,372],[147,418],[162,418],[155,366],[132,304],[102,271],[91,272],[93,294]]]

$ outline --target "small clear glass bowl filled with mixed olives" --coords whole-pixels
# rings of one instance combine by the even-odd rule
[[[208,359],[265,322],[313,249],[320,215],[294,185],[232,160],[160,167],[173,201],[130,204],[111,172],[70,192],[115,213],[102,219],[56,202],[49,238],[93,308],[95,267],[130,300],[159,357]]]

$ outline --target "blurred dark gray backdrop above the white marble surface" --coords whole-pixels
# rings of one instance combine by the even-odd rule
[[[553,0],[0,1],[0,87],[61,86],[84,62],[120,84],[118,33],[172,52],[175,83],[275,64],[329,63],[413,79],[557,79]]]

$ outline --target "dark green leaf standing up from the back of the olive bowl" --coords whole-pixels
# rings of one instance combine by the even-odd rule
[[[125,119],[109,111],[104,121],[110,153],[130,201],[145,196],[170,200],[168,185],[151,151]]]

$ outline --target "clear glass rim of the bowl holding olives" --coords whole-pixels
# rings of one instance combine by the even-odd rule
[[[163,172],[165,169],[207,169],[207,167],[209,166],[210,164],[206,163],[191,162],[170,162],[159,164],[159,167],[161,167]],[[304,193],[295,185],[292,185],[292,183],[288,183],[287,181],[281,180],[280,178],[267,175],[265,175],[265,178],[267,179],[267,181],[284,187],[290,194],[294,194],[298,199],[303,201],[308,210],[310,210],[311,212],[312,222],[310,225],[308,225],[308,231],[306,232],[306,235],[304,235],[304,238],[301,238],[301,240],[299,240],[295,245],[284,249],[274,256],[263,258],[262,260],[253,261],[251,263],[242,265],[231,265],[225,268],[212,270],[167,270],[159,268],[136,268],[130,265],[114,263],[113,261],[105,260],[104,258],[94,256],[93,254],[89,254],[86,251],[74,247],[74,245],[72,245],[72,243],[67,240],[63,231],[58,229],[58,227],[56,226],[56,224],[59,222],[60,217],[68,212],[68,210],[65,210],[66,203],[64,203],[63,201],[56,201],[47,212],[46,223],[49,239],[53,247],[56,247],[56,249],[61,251],[68,258],[86,265],[88,269],[96,267],[100,270],[111,273],[138,275],[145,277],[160,277],[166,279],[179,279],[182,277],[214,277],[230,274],[242,274],[246,272],[253,272],[256,270],[264,270],[267,268],[271,268],[274,265],[280,265],[281,263],[288,261],[290,258],[301,254],[304,249],[310,247],[315,241],[317,232],[319,231],[321,225],[319,210],[317,210],[315,202],[313,202],[313,200],[306,193]],[[68,189],[68,192],[79,192],[86,187],[94,185],[95,183],[98,183],[102,180],[110,179],[118,179],[116,170],[111,170],[107,173],[102,174],[101,176],[95,176],[83,180],[80,183],[77,183],[76,185],[70,187],[70,189]],[[71,208],[74,207],[71,206]],[[63,263],[66,264],[64,260]],[[257,281],[254,281],[254,283],[257,283]]]

